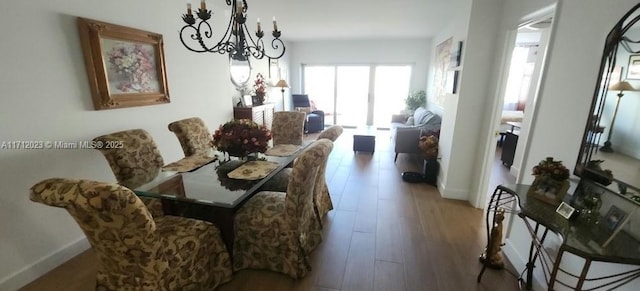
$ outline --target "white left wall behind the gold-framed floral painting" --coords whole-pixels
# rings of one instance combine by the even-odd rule
[[[213,130],[232,118],[234,92],[226,56],[191,53],[180,43],[184,10],[184,1],[169,0],[0,2],[0,142],[83,141],[143,128],[165,162],[181,158],[167,124],[200,116]],[[78,16],[163,34],[171,103],[93,110]],[[29,201],[29,188],[50,177],[115,178],[96,150],[4,149],[0,163],[0,290],[13,290],[88,246],[64,209]]]

